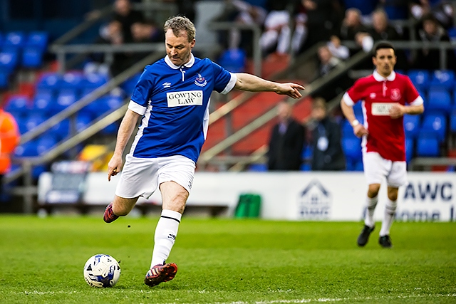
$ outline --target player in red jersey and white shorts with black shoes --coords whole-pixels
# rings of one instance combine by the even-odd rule
[[[378,191],[384,178],[388,185],[388,201],[378,242],[390,248],[390,227],[397,207],[398,189],[407,183],[405,133],[403,115],[423,113],[423,98],[410,78],[395,73],[396,56],[393,46],[380,42],[373,49],[372,75],[356,81],[341,100],[343,115],[351,123],[353,133],[362,137],[364,175],[368,182],[367,214],[358,246],[365,246],[375,228],[373,212]],[[353,105],[363,103],[364,122],[358,122]]]

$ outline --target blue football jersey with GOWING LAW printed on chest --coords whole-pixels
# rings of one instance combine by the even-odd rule
[[[229,93],[236,75],[208,58],[177,66],[166,56],[147,65],[128,108],[142,117],[130,153],[155,158],[183,155],[197,162],[209,126],[213,90]]]

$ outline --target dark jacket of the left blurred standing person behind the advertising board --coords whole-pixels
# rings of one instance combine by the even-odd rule
[[[304,126],[295,120],[289,120],[284,135],[279,132],[279,124],[272,129],[269,140],[269,170],[299,170],[304,146]]]

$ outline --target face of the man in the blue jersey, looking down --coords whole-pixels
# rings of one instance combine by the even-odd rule
[[[195,46],[195,39],[189,42],[186,31],[181,31],[176,37],[172,33],[172,29],[169,28],[165,33],[165,46],[170,61],[180,66],[190,61],[190,53]]]

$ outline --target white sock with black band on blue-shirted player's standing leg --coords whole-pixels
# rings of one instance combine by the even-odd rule
[[[162,211],[162,216],[160,216],[157,228],[155,228],[154,251],[152,252],[150,268],[164,263],[168,256],[170,256],[181,218],[182,214],[177,211]]]

